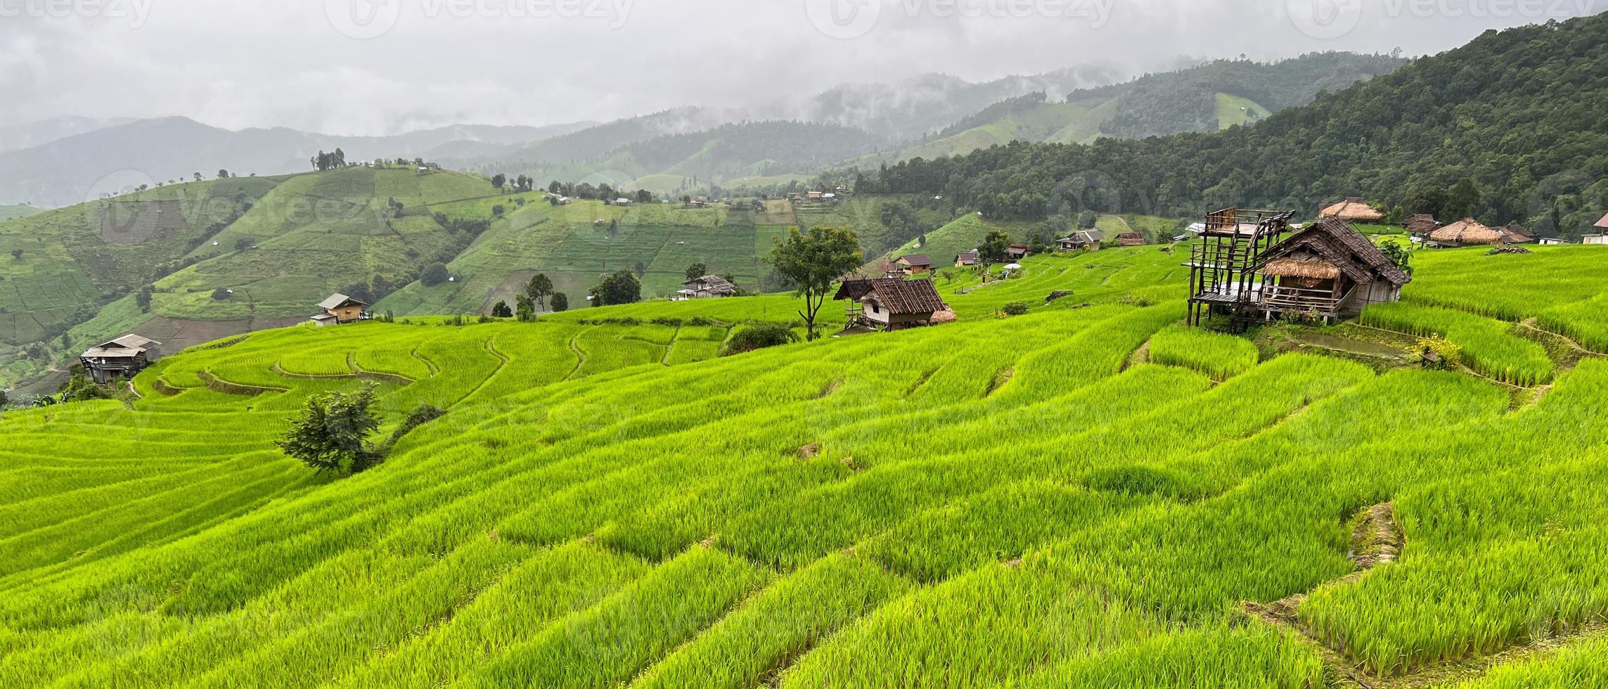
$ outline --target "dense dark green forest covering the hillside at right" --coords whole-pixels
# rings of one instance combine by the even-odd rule
[[[857,191],[944,194],[992,220],[1230,206],[1314,214],[1365,196],[1442,222],[1473,215],[1576,236],[1608,212],[1605,34],[1608,14],[1491,31],[1256,127],[1010,143],[884,165]]]

